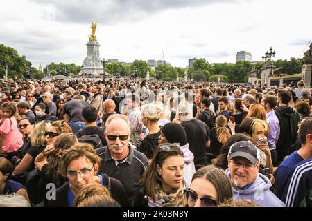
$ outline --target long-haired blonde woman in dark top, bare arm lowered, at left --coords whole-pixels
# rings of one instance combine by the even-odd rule
[[[44,135],[44,131],[48,130],[50,126],[50,122],[39,122],[36,124],[30,136],[31,148],[29,148],[26,155],[21,159],[21,162],[15,166],[13,175],[21,175],[26,171],[35,169],[35,158],[44,150],[48,141]]]

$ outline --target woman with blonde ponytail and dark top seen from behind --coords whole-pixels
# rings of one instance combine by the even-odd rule
[[[227,117],[220,115],[216,117],[216,127],[210,130],[210,146],[208,153],[212,154],[212,158],[218,157],[223,144],[229,140],[231,132],[227,128]]]

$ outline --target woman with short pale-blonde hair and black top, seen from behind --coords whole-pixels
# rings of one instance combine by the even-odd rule
[[[158,137],[160,136],[160,128],[158,126],[158,121],[160,118],[160,113],[162,113],[161,108],[155,103],[146,104],[142,107],[142,123],[148,128],[150,134],[144,137],[138,151],[144,153],[148,159],[153,157],[156,146],[158,145]]]

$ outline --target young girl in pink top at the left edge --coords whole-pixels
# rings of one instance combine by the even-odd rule
[[[1,109],[5,119],[0,126],[0,153],[10,159],[23,145],[23,135],[17,127],[20,117],[16,105],[12,102],[2,104]]]

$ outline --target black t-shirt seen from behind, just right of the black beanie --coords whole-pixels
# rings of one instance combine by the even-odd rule
[[[205,166],[207,164],[206,142],[210,140],[210,133],[207,124],[198,119],[191,119],[181,122],[187,133],[189,150],[194,155],[195,166]]]

